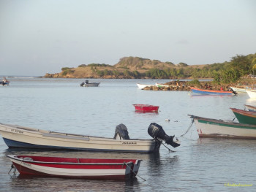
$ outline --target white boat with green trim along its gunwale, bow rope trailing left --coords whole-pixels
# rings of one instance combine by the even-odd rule
[[[197,134],[203,137],[222,137],[230,139],[256,139],[256,126],[227,122],[211,118],[189,115],[195,121]]]

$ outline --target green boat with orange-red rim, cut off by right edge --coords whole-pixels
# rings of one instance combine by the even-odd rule
[[[230,108],[230,110],[236,115],[239,123],[256,125],[256,112],[238,110],[236,108]]]

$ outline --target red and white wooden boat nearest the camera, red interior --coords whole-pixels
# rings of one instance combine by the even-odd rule
[[[20,174],[47,177],[125,180],[135,177],[140,159],[62,158],[7,155]]]

